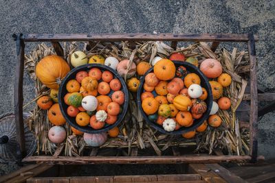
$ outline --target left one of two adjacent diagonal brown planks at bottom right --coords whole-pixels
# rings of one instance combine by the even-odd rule
[[[217,173],[214,173],[205,164],[189,164],[188,173],[197,173],[201,175],[202,180],[211,183],[226,183]]]

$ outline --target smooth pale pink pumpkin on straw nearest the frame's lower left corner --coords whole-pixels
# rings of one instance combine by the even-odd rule
[[[47,136],[52,143],[62,143],[67,136],[67,132],[64,127],[53,126],[50,128]]]

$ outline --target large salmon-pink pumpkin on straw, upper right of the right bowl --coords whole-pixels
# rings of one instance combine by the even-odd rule
[[[203,60],[203,62],[201,62],[201,65],[199,66],[199,69],[208,78],[219,77],[219,75],[221,75],[223,71],[221,63],[218,60],[212,58]]]

